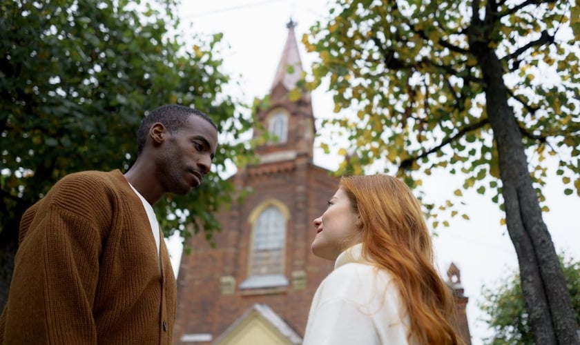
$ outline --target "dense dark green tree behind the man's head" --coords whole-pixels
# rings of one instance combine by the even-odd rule
[[[70,172],[128,168],[139,122],[157,106],[195,106],[222,133],[204,184],[155,205],[165,235],[219,228],[213,214],[233,190],[219,175],[251,154],[235,141],[250,119],[222,93],[221,35],[186,48],[175,10],[174,0],[1,1],[0,307],[23,211]]]

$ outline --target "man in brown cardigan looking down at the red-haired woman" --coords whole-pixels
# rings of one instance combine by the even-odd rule
[[[122,174],[68,175],[24,213],[0,344],[171,344],[175,277],[153,204],[202,183],[218,129],[162,106]]]

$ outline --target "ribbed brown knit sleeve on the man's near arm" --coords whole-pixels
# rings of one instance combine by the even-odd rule
[[[5,315],[10,344],[97,344],[92,312],[106,224],[90,215],[110,210],[93,204],[97,190],[79,198],[86,190],[86,181],[64,179],[28,211],[34,217],[23,217]]]

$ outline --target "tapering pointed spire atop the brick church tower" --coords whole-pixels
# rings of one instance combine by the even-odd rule
[[[288,37],[286,39],[286,44],[284,45],[284,50],[282,51],[282,57],[278,63],[278,68],[276,69],[276,75],[274,75],[274,80],[272,82],[271,91],[282,83],[282,86],[286,90],[292,90],[296,87],[296,82],[302,77],[302,61],[300,60],[300,52],[298,51],[298,43],[296,42],[296,34],[294,34],[294,28],[296,27],[296,21],[290,18],[290,21],[286,24],[288,28]]]

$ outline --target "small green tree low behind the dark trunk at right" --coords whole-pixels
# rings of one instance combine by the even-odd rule
[[[560,256],[560,263],[572,297],[576,322],[580,322],[580,262]],[[483,289],[484,301],[480,307],[487,313],[485,322],[495,333],[486,339],[488,344],[534,344],[519,280],[519,275],[515,274],[506,277],[499,287]]]

